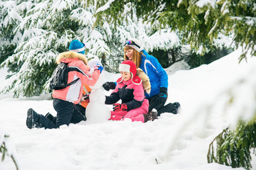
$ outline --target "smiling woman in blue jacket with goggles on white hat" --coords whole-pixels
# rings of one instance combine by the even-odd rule
[[[149,99],[149,112],[155,108],[157,115],[161,113],[178,113],[178,108],[180,107],[178,102],[168,103],[164,106],[168,97],[168,76],[166,71],[154,56],[149,55],[145,50],[141,50],[141,42],[136,38],[131,38],[125,42],[124,60],[132,60],[136,67],[142,69],[149,77],[151,92],[150,94],[145,93],[146,98]],[[115,83],[106,82],[103,87],[109,91],[114,89]]]

